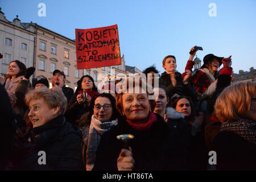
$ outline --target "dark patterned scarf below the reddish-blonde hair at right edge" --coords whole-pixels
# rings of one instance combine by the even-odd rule
[[[256,122],[250,119],[239,119],[222,123],[220,131],[233,131],[249,143],[256,144]]]

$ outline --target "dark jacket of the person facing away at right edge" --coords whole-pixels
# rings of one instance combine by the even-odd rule
[[[256,146],[232,131],[221,131],[213,141],[217,170],[256,170]]]

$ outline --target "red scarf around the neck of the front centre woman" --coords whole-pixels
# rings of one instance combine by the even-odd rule
[[[157,118],[153,112],[150,113],[150,117],[148,118],[146,123],[136,124],[130,119],[126,119],[126,122],[129,123],[129,125],[137,131],[150,130],[152,123],[156,121],[157,121]]]

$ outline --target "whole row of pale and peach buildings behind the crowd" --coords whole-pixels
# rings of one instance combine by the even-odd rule
[[[17,17],[10,22],[0,8],[0,53],[1,76],[9,69],[13,60],[22,61],[26,67],[35,67],[32,78],[47,78],[51,84],[52,73],[55,69],[63,71],[66,76],[65,86],[77,88],[77,81],[83,75],[93,77],[95,84],[102,81],[101,73],[110,74],[141,73],[136,67],[125,65],[125,56],[121,57],[121,65],[111,67],[77,69],[76,43],[63,35],[57,34],[36,23],[22,23]]]

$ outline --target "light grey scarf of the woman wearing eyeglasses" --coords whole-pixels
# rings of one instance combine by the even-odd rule
[[[101,136],[109,131],[111,127],[117,125],[117,119],[102,123],[92,115],[89,129],[89,138],[86,151],[86,170],[92,171],[96,159],[96,151],[100,144]]]

